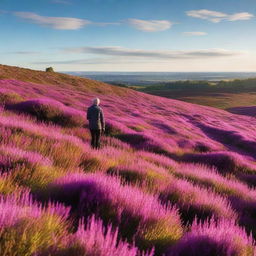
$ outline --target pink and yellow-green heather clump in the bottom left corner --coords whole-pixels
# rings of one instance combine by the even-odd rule
[[[61,205],[42,207],[28,193],[0,198],[1,255],[33,255],[61,242],[69,210]]]

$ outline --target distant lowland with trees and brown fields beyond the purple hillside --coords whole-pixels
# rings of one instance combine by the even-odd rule
[[[67,72],[152,95],[256,115],[256,73]],[[243,108],[244,107],[244,108]],[[250,111],[248,112],[248,107]]]

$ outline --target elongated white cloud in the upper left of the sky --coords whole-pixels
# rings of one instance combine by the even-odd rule
[[[14,15],[35,24],[60,30],[77,30],[92,23],[89,20],[77,18],[40,16],[33,12],[14,12]]]

